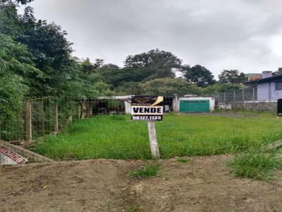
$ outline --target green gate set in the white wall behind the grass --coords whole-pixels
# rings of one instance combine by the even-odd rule
[[[180,112],[209,112],[209,100],[180,100]]]

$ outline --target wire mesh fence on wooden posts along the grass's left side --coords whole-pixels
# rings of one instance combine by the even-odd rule
[[[125,114],[125,100],[55,97],[24,100],[20,102],[20,110],[11,112],[9,118],[0,117],[0,140],[31,140],[58,133],[76,119],[99,114]]]

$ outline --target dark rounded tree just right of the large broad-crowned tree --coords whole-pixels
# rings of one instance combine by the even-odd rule
[[[190,67],[189,65],[183,66],[183,73],[187,81],[192,82],[200,87],[205,87],[215,83],[212,72],[201,65]]]

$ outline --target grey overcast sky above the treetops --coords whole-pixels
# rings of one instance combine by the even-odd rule
[[[217,77],[282,67],[281,0],[35,0],[37,19],[68,32],[78,58],[123,66],[159,48]]]

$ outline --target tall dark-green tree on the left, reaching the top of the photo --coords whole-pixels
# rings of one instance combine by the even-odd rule
[[[20,1],[21,4],[28,2],[30,1]],[[8,41],[4,40],[3,44],[11,43],[0,47],[8,53],[13,50],[13,46],[15,49],[20,46],[16,56],[10,54],[8,57],[14,61],[8,70],[17,74],[15,76],[20,77],[27,86],[25,96],[94,96],[110,92],[109,85],[97,72],[104,60],[97,59],[92,64],[88,58],[82,62],[73,58],[72,44],[59,25],[44,20],[37,21],[33,8],[29,6],[25,8],[23,15],[18,15],[16,6],[16,1],[6,1],[5,11],[0,10],[1,20],[6,21],[5,27],[0,25],[0,29],[6,29],[1,30],[1,33],[8,34],[10,38]],[[18,66],[14,64],[20,64],[21,67],[16,68]]]

